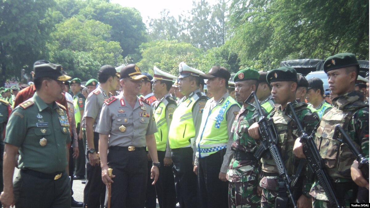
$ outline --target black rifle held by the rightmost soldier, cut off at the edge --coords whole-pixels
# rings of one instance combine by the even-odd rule
[[[339,132],[342,137],[339,137]],[[340,124],[335,125],[333,140],[338,140],[351,150],[351,152],[356,156],[356,160],[359,162],[359,169],[362,172],[363,177],[369,182],[369,160],[365,158],[361,152],[354,146],[351,138],[347,135],[346,131],[340,126]]]

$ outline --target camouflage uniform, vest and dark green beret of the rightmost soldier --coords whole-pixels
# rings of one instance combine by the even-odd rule
[[[336,54],[326,59],[324,71],[348,66],[359,66],[356,57],[350,53]],[[333,140],[334,126],[340,124],[364,157],[369,158],[369,105],[364,104],[363,94],[359,91],[351,91],[338,96],[333,99],[332,103],[333,108],[323,115],[314,140],[323,158],[327,174],[334,182],[336,197],[342,205],[349,207],[349,203],[355,202],[357,196],[355,191],[357,185],[352,181],[350,171],[356,157],[344,144]],[[369,194],[368,191],[366,192],[363,195]],[[312,186],[310,194],[314,197],[313,207],[330,207],[318,182]],[[359,194],[358,197],[364,196]]]

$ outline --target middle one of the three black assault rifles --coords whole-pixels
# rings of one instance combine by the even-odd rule
[[[289,115],[289,111],[292,112],[293,117]],[[296,111],[291,103],[286,104],[285,115],[289,116],[293,121],[295,121],[298,130],[301,132],[300,142],[303,146],[303,152],[306,155],[306,162],[308,164],[309,171],[316,174],[320,186],[323,187],[326,197],[329,199],[329,203],[337,208],[342,208],[337,200],[337,197],[335,196],[333,186],[330,183],[330,178],[325,171],[322,158],[319,150],[317,150],[316,144],[313,141],[313,137],[312,135],[309,136],[305,130],[303,130],[302,124],[300,123]],[[312,134],[313,133],[314,131]]]

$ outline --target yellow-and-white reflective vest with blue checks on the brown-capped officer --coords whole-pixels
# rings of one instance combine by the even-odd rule
[[[196,139],[199,157],[203,158],[226,148],[228,143],[226,113],[233,105],[238,105],[238,103],[228,96],[226,100],[223,100],[222,105],[216,105],[212,109],[204,108],[203,116],[207,115],[207,119],[202,119],[202,131],[199,130],[202,133]]]

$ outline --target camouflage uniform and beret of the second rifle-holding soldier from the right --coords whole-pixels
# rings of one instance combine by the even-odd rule
[[[275,81],[297,81],[296,71],[292,67],[280,67],[278,69],[271,70],[267,75],[269,84]],[[319,116],[317,113],[310,110],[307,103],[297,103],[296,100],[291,102],[294,110],[296,111],[299,122],[306,132],[312,132],[317,123],[319,123]],[[294,175],[297,171],[299,159],[293,154],[293,146],[295,140],[300,137],[301,132],[298,130],[295,121],[292,120],[292,113],[285,115],[285,109],[281,109],[278,105],[268,115],[274,121],[277,131],[277,147],[279,148],[280,155],[283,158],[285,167],[289,175]],[[262,179],[260,180],[260,187],[262,190],[261,207],[274,207],[276,197],[279,195],[284,196],[287,191],[285,189],[279,190],[279,174],[273,161],[272,157],[268,157],[266,154],[261,158],[262,163]],[[304,171],[301,173],[305,175]],[[297,197],[300,197],[300,191],[302,195],[307,198],[310,197],[309,189],[312,185],[307,179],[299,182],[296,186],[302,185],[302,190],[296,190]],[[280,192],[279,192],[280,191]],[[293,193],[294,195],[294,193]],[[295,198],[297,200],[298,198]]]

